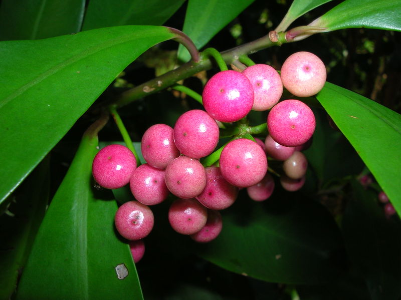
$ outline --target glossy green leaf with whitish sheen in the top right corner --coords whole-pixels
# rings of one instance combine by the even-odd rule
[[[401,31],[401,2],[345,0],[309,25],[325,31],[361,27]]]

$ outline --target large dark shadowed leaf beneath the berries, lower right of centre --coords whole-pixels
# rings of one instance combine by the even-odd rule
[[[196,245],[203,258],[269,282],[318,283],[338,274],[339,230],[321,205],[301,194],[276,188],[266,202],[243,194],[222,216],[220,235]]]

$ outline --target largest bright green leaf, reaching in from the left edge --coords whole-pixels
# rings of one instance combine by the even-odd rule
[[[37,41],[0,42],[0,202],[105,88],[168,29],[124,26]]]

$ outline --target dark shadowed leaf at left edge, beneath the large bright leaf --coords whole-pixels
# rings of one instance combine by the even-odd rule
[[[0,216],[0,299],[17,288],[49,200],[49,158],[46,158],[11,196],[9,214]]]

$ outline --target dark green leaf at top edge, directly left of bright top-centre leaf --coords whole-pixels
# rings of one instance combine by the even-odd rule
[[[83,30],[121,25],[162,25],[185,0],[91,0]]]

